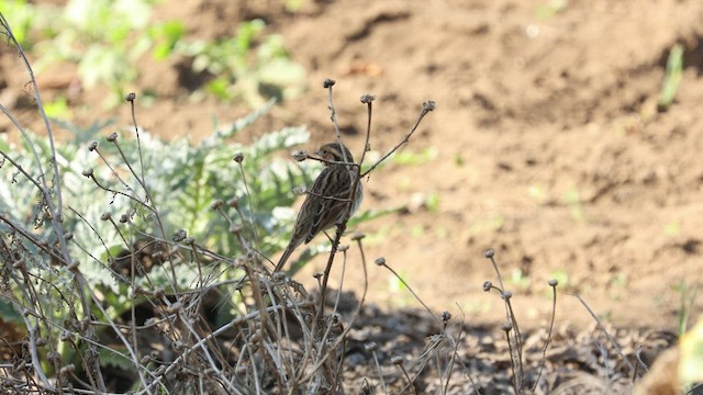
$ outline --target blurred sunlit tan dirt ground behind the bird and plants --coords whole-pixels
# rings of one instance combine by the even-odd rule
[[[591,321],[567,295],[578,293],[617,326],[673,329],[677,286],[700,284],[703,267],[703,2],[572,0],[550,14],[554,4],[308,0],[292,14],[274,0],[183,0],[164,1],[155,16],[182,19],[191,37],[232,34],[252,18],[282,34],[308,71],[308,89],[241,138],[306,124],[308,148],[332,139],[325,78],[337,81],[335,105],[355,153],[366,127],[361,94],[377,97],[371,148],[381,153],[402,139],[423,101],[436,102],[404,148],[427,150],[431,159],[388,166],[365,183],[366,208],[406,210],[359,230],[370,235],[367,257],[386,257],[437,312],[462,312],[468,324],[502,323],[501,301],[481,289],[496,282],[483,258],[493,248],[524,325],[548,319],[547,281],[556,278],[558,325]],[[683,80],[673,105],[658,112],[677,43],[685,46]],[[15,57],[1,61],[4,70],[16,67]],[[0,78],[3,104],[14,98],[11,110],[34,122],[21,100],[24,81]],[[51,99],[76,74],[56,66],[38,78]],[[125,89],[158,94],[138,109],[142,126],[197,139],[212,129],[212,115],[226,123],[248,111],[190,101],[181,82],[177,61],[144,61],[135,87]],[[71,95],[75,121],[92,123],[91,103],[102,95]],[[131,121],[126,105],[100,116]],[[427,210],[423,203],[435,196],[437,208]],[[350,258],[345,289],[359,291],[358,252]],[[372,264],[369,271],[368,300],[419,306],[390,273]],[[699,298],[693,317],[702,305]]]

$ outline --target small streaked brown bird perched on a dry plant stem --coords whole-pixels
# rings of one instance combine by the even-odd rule
[[[357,177],[354,157],[349,149],[339,142],[327,143],[315,153],[324,159],[324,169],[315,179],[312,189],[305,196],[303,205],[298,212],[293,234],[274,272],[283,268],[290,255],[302,242],[310,242],[320,232],[341,224],[352,198],[352,188]],[[354,202],[349,210],[349,217],[361,205],[364,188],[357,182]]]

